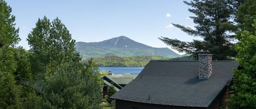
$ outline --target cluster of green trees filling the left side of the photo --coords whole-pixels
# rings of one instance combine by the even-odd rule
[[[25,50],[10,6],[0,0],[0,10],[0,109],[102,108],[98,66],[80,62],[61,20],[39,18]]]

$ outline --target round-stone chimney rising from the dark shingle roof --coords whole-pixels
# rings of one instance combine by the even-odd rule
[[[199,79],[209,79],[212,75],[212,54],[198,54]]]

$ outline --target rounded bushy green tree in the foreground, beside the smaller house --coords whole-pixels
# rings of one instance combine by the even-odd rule
[[[67,62],[43,82],[41,108],[101,108],[97,68],[93,63]]]

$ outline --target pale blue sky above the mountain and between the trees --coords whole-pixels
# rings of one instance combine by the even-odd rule
[[[188,36],[169,25],[177,23],[193,27],[188,5],[181,0],[74,0],[34,1],[7,0],[20,28],[19,45],[29,49],[27,35],[35,27],[38,18],[46,16],[52,21],[58,17],[68,28],[76,42],[99,42],[113,37],[127,36],[151,47],[169,47],[158,37],[181,41],[199,37]],[[170,47],[169,47],[170,48]]]

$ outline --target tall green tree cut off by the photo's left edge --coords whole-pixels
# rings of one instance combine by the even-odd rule
[[[15,29],[15,16],[3,0],[0,10],[0,108],[21,108],[20,86],[13,75],[17,68],[14,46],[20,40],[19,29]]]

